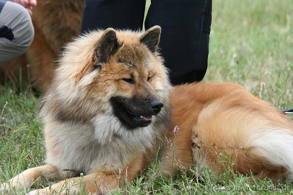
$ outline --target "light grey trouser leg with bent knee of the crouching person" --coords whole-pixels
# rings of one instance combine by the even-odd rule
[[[0,1],[3,4],[4,1]],[[5,29],[12,30],[13,39],[7,39],[5,35],[3,37],[0,34],[0,65],[24,54],[34,38],[31,17],[28,11],[18,3],[5,2],[0,11],[0,28],[3,26]]]

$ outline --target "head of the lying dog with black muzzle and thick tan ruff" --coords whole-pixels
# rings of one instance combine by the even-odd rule
[[[81,115],[114,114],[128,129],[146,127],[168,103],[160,33],[159,26],[145,33],[108,28],[76,39],[65,48],[51,90]]]

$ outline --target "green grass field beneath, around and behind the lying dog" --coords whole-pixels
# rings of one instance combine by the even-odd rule
[[[278,109],[293,107],[293,1],[214,0],[212,17],[204,80],[239,83]],[[39,107],[29,84],[0,86],[0,183],[44,163]],[[293,194],[292,183],[249,183],[249,176],[229,169],[220,178],[209,170],[204,176],[182,170],[181,176],[154,178],[158,171],[154,162],[114,194]]]

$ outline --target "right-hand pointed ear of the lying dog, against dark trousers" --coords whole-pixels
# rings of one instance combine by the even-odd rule
[[[153,26],[149,28],[140,38],[141,43],[145,44],[152,52],[157,51],[161,35],[161,27]]]

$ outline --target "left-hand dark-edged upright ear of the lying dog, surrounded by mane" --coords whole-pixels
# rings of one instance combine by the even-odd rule
[[[120,47],[121,45],[118,43],[116,31],[113,28],[107,28],[96,46],[98,63],[108,62],[110,57],[114,55]]]

